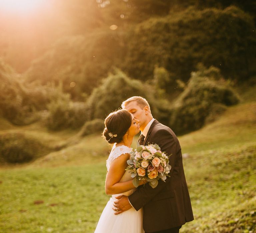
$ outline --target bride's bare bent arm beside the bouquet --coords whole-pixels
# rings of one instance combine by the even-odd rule
[[[132,180],[120,182],[125,173],[125,168],[128,166],[126,161],[129,158],[130,154],[122,154],[111,163],[105,183],[105,191],[107,195],[119,194],[135,188],[132,184]],[[144,183],[145,182],[140,182],[139,185]]]

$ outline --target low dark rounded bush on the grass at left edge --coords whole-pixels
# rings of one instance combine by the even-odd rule
[[[50,149],[35,138],[23,133],[0,134],[0,160],[23,163],[47,154]]]

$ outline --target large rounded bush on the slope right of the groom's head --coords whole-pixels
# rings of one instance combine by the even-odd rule
[[[191,78],[183,93],[172,108],[170,125],[177,134],[184,134],[199,129],[216,116],[239,102],[238,95],[221,77],[219,69],[200,66],[192,72]],[[207,119],[208,117],[208,119]]]

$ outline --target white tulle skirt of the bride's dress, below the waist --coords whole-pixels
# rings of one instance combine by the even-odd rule
[[[136,211],[133,207],[115,215],[111,197],[100,216],[94,233],[144,233],[142,215],[143,209]]]

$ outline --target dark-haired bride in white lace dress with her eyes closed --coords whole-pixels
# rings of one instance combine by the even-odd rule
[[[133,137],[140,131],[138,122],[139,120],[124,109],[110,113],[105,119],[103,137],[113,144],[107,159],[105,191],[112,197],[105,206],[94,233],[144,233],[142,208],[139,211],[130,208],[118,215],[114,214],[118,210],[112,209],[115,197],[129,196],[135,191],[131,174],[125,168],[126,161],[130,159]],[[144,183],[140,182],[140,185]]]

